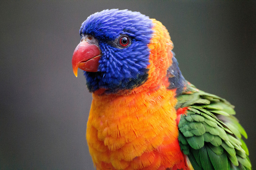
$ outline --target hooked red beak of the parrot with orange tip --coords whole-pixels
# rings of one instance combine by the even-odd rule
[[[99,60],[99,47],[82,40],[77,45],[72,57],[72,66],[75,76],[77,77],[78,68],[89,72],[98,71]]]

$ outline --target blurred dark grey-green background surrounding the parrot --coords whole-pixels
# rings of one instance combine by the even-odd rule
[[[184,77],[236,106],[256,167],[256,1],[1,1],[0,169],[93,169],[71,58],[81,23],[112,8],[166,26]]]

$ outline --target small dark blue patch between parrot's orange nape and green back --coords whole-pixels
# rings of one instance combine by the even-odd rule
[[[167,70],[167,76],[169,77],[168,80],[170,82],[168,89],[177,89],[176,90],[176,96],[178,96],[185,86],[185,78],[182,76],[179,63],[177,59],[175,58],[175,54],[173,53],[172,57],[172,66],[168,68]]]

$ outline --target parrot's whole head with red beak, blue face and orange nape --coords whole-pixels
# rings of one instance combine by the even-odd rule
[[[104,10],[80,28],[72,65],[84,70],[90,92],[118,93],[169,83],[172,41],[166,28],[140,12]]]

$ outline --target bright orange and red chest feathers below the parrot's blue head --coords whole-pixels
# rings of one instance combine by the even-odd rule
[[[164,86],[126,96],[93,94],[86,139],[97,169],[186,169],[175,92]]]

